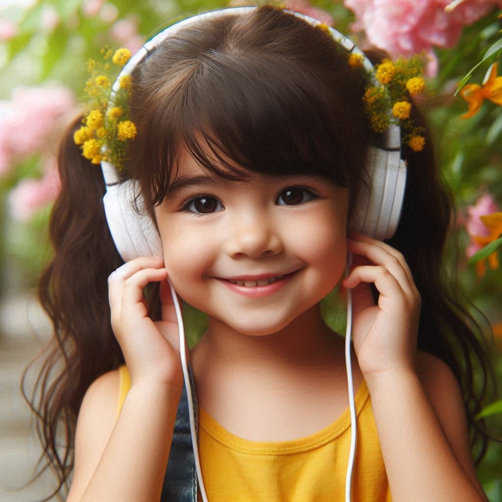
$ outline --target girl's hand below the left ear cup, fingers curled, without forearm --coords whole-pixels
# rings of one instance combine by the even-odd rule
[[[157,383],[181,391],[179,334],[167,271],[162,258],[137,258],[110,274],[108,298],[111,326],[120,344],[133,384]],[[143,288],[161,281],[162,320],[148,317]]]

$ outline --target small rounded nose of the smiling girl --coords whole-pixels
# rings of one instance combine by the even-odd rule
[[[235,218],[225,242],[225,252],[232,258],[260,258],[282,251],[280,229],[263,214]]]

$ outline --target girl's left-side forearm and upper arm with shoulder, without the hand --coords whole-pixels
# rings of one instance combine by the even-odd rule
[[[115,422],[118,372],[97,379],[79,413],[68,502],[159,500],[180,395],[133,385]]]

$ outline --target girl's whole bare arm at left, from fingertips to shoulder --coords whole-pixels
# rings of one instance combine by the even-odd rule
[[[137,258],[108,278],[111,325],[131,374],[115,422],[118,372],[88,389],[77,422],[69,502],[159,499],[183,387],[178,324],[161,258]],[[143,288],[160,281],[162,319]]]

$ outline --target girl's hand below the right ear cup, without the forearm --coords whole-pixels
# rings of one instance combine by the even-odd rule
[[[403,255],[366,235],[347,240],[354,255],[349,276],[352,289],[352,340],[362,373],[415,371],[421,298]],[[380,292],[374,304],[370,283]]]

